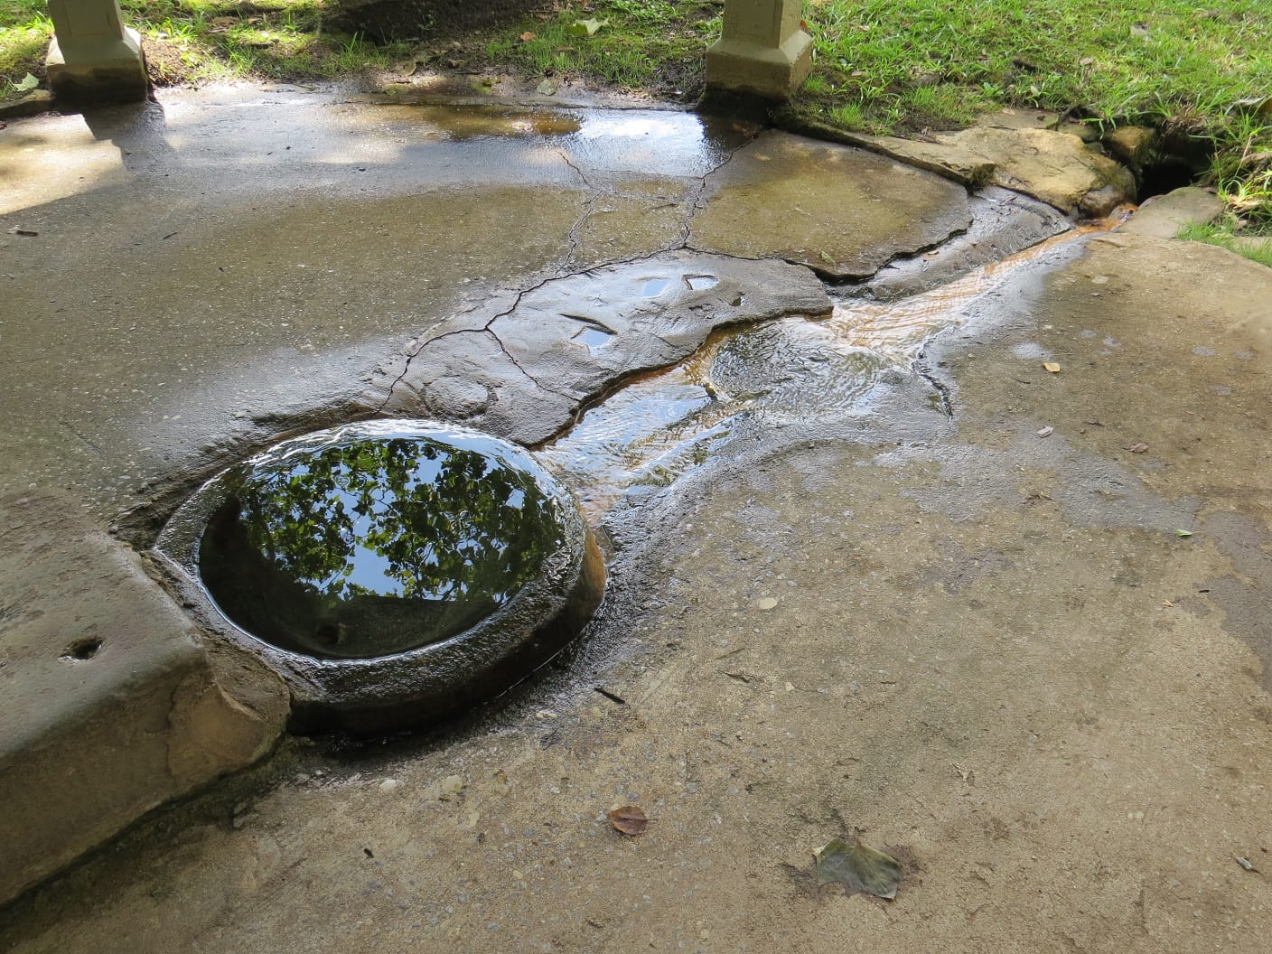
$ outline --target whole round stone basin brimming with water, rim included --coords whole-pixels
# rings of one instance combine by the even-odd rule
[[[158,550],[284,677],[301,722],[351,729],[506,688],[604,589],[572,496],[528,452],[427,421],[284,441],[205,485]]]

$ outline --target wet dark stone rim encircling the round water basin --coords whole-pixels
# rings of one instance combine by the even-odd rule
[[[560,541],[515,595],[455,635],[365,659],[323,658],[275,645],[219,608],[200,572],[200,548],[210,518],[226,502],[234,474],[263,454],[305,441],[402,435],[497,446],[502,463],[528,472],[555,501]],[[168,520],[151,553],[182,604],[209,632],[214,650],[226,644],[245,650],[282,678],[291,693],[293,731],[374,734],[440,721],[529,675],[584,628],[604,597],[604,560],[572,494],[516,444],[438,421],[393,418],[313,431],[263,454],[204,483]]]

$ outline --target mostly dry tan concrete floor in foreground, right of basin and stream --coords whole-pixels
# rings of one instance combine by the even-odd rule
[[[1269,293],[1135,235],[1000,272],[927,349],[953,418],[902,369],[851,418],[809,394],[607,520],[613,602],[500,715],[293,747],[0,940],[1261,954]],[[895,902],[817,888],[854,834],[907,862]]]

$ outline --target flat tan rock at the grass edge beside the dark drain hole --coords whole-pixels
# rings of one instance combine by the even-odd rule
[[[992,182],[1024,192],[1066,214],[1099,218],[1135,200],[1131,172],[1086,148],[1075,135],[1021,123],[972,126],[922,140],[854,136],[861,145],[959,182]]]

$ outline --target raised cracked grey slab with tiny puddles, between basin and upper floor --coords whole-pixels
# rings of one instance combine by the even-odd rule
[[[509,305],[460,315],[374,384],[388,393],[387,413],[541,444],[617,382],[688,357],[716,328],[829,312],[806,268],[672,252],[553,279]]]

